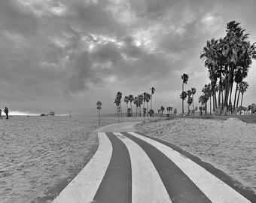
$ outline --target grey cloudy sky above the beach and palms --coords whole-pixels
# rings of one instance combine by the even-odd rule
[[[181,112],[185,89],[209,83],[200,52],[236,20],[256,41],[254,0],[0,1],[0,108],[41,114],[115,111],[117,91],[150,92]],[[244,105],[256,102],[256,62]],[[123,106],[125,106],[123,104]]]

